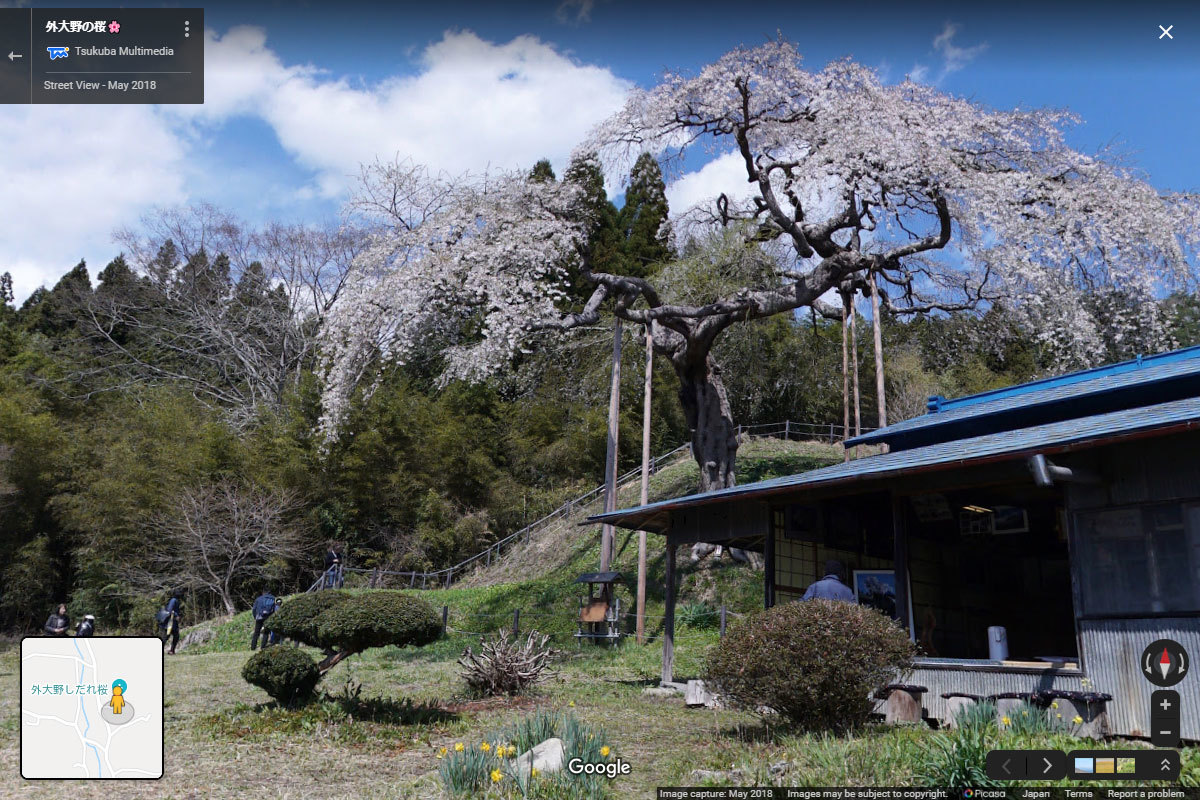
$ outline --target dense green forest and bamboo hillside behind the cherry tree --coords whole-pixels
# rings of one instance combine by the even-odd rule
[[[595,260],[636,275],[696,255],[695,245],[673,249],[653,160],[635,166],[619,210],[594,167],[572,170],[599,221]],[[534,175],[557,180],[545,163]],[[355,566],[438,569],[602,481],[611,318],[476,383],[443,380],[444,342],[430,341],[402,366],[379,365],[340,435],[322,438],[317,335],[355,235],[251,230],[200,207],[145,222],[98,272],[80,263],[19,307],[5,281],[0,625],[29,630],[67,599],[73,615],[96,614],[108,631],[144,627],[162,593],[181,585],[191,616],[245,608],[264,582],[311,583],[330,541]],[[1196,342],[1195,301],[1163,305],[1171,342]],[[871,325],[857,321],[862,423],[874,426]],[[882,327],[893,420],[923,413],[930,393],[1056,365],[1000,307],[911,321],[884,313]],[[622,469],[641,458],[644,363],[641,335],[625,333]],[[1114,338],[1108,356],[1129,349]],[[714,357],[737,423],[841,425],[836,320],[737,325]],[[677,392],[676,374],[656,363],[655,453],[688,440]],[[244,529],[266,533],[247,546]]]

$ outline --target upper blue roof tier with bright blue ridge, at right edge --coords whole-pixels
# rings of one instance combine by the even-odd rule
[[[1196,379],[1200,379],[1200,347],[1139,356],[979,395],[954,399],[932,397],[929,414],[847,439],[846,445],[886,441],[894,449],[902,449],[910,443],[928,445],[964,434],[1055,421],[1072,415],[1068,404],[1090,405],[1079,409],[1086,414],[1178,399],[1195,393],[1190,381]],[[1079,416],[1079,411],[1074,415]]]

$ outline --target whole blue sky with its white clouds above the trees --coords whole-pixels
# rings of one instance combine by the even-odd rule
[[[328,218],[377,156],[560,170],[629,86],[776,32],[812,68],[852,56],[991,107],[1069,108],[1075,146],[1116,145],[1160,190],[1200,191],[1195,4],[215,2],[205,28],[204,107],[0,107],[0,271],[19,297],[80,258],[95,273],[113,229],[156,205]],[[736,178],[689,169],[677,205]]]

